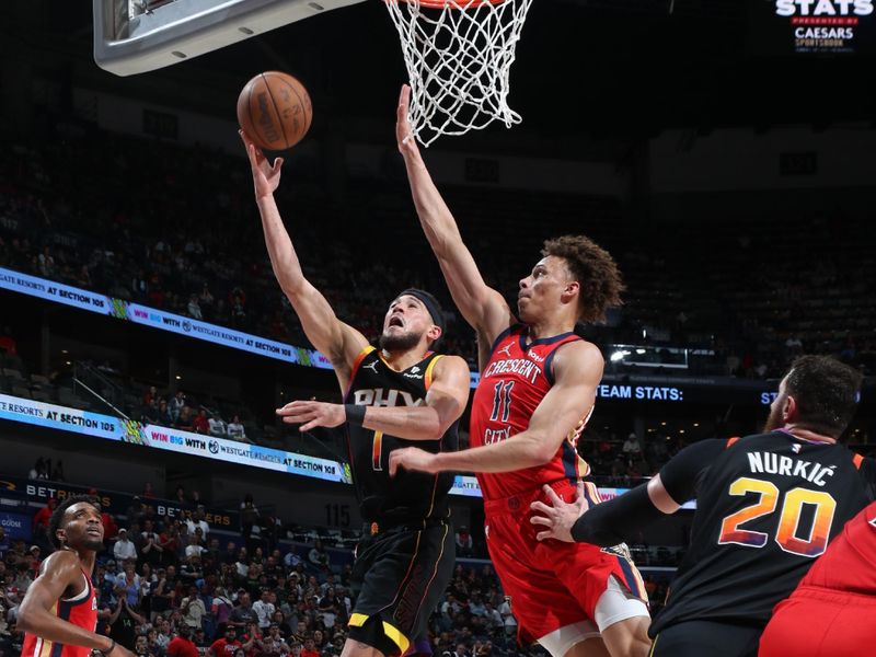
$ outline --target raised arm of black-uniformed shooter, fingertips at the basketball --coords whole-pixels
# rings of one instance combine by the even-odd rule
[[[325,297],[304,278],[292,240],[274,199],[274,192],[280,182],[283,158],[269,164],[246,132],[240,130],[240,136],[252,166],[255,201],[262,215],[262,228],[274,275],[301,320],[308,339],[332,361],[342,387],[346,387],[350,366],[368,341],[353,326],[338,320]]]

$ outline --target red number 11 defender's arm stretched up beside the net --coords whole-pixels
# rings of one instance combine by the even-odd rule
[[[404,157],[419,222],[441,266],[453,302],[465,321],[483,335],[487,344],[492,344],[515,321],[514,313],[502,295],[484,283],[472,254],[462,242],[453,215],[423,162],[407,118],[410,100],[411,88],[405,84],[399,97],[395,138]]]

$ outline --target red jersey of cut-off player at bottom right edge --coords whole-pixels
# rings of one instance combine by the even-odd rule
[[[876,596],[876,502],[845,523],[800,587]]]

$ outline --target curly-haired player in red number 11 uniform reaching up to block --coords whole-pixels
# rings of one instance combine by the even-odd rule
[[[519,321],[484,283],[456,220],[411,138],[405,85],[396,140],[423,230],[453,301],[477,334],[481,383],[471,413],[471,449],[390,454],[390,470],[477,473],[491,558],[522,642],[538,641],[554,657],[644,656],[650,648],[646,593],[625,546],[551,541],[540,544],[529,505],[541,486],[572,499],[588,465],[575,449],[602,378],[599,349],[575,324],[601,319],[620,303],[621,275],[592,241],[567,235],[545,242],[543,257],[520,280]],[[596,488],[589,485],[591,494]]]

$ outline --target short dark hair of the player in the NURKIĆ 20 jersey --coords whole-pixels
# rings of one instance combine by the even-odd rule
[[[830,356],[800,356],[785,376],[785,391],[797,402],[800,425],[839,438],[855,414],[863,380]]]

